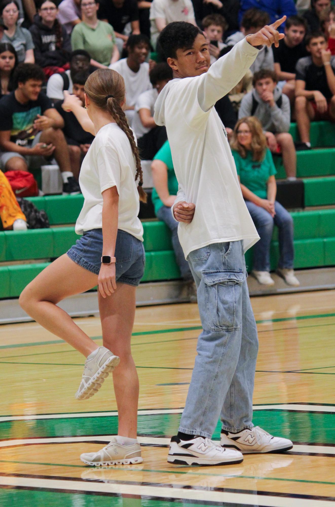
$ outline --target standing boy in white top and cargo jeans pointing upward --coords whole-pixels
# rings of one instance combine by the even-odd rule
[[[178,237],[197,285],[203,332],[177,436],[168,461],[232,464],[244,452],[285,451],[287,439],[252,424],[252,393],[258,350],[244,251],[259,236],[239,186],[227,133],[213,107],[244,76],[257,47],[284,37],[271,26],[210,66],[208,44],[193,25],[176,22],[159,44],[174,78],[159,94],[154,119],[165,125],[179,190],[172,207]],[[220,418],[221,441],[210,439]]]

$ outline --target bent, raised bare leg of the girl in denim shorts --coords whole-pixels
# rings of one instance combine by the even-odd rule
[[[25,287],[19,303],[36,322],[87,357],[98,348],[97,344],[56,304],[88,291],[97,282],[97,275],[71,261],[65,253]]]

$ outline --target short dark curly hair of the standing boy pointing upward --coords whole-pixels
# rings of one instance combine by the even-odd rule
[[[164,58],[176,58],[177,49],[192,47],[199,33],[203,34],[198,26],[185,21],[173,21],[162,31],[158,45],[162,48]]]

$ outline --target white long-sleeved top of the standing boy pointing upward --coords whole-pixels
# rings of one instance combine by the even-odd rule
[[[173,79],[158,96],[155,122],[165,125],[179,190],[177,201],[196,205],[191,224],[179,223],[185,258],[211,243],[258,239],[242,197],[227,133],[215,102],[245,75],[258,54],[246,40],[210,66],[206,74]]]

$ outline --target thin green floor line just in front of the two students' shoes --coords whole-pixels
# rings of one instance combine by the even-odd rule
[[[6,459],[0,459],[0,463],[17,463],[22,465],[43,465],[43,466],[67,466],[71,468],[84,468],[86,470],[91,469],[92,471],[106,469],[106,467],[103,468],[95,468],[95,467],[88,467],[86,465],[67,465],[65,463],[39,463],[39,462],[33,462],[33,461],[10,461]],[[109,470],[124,470],[124,468],[115,467],[108,468]],[[134,470],[134,472],[148,472],[152,474],[179,474],[179,475],[196,475],[196,476],[206,476],[206,477],[225,477],[228,479],[256,479],[256,480],[264,480],[264,481],[283,481],[283,482],[302,482],[307,484],[323,484],[323,485],[329,485],[334,486],[335,482],[327,482],[327,481],[308,481],[306,479],[285,479],[282,477],[263,477],[263,476],[245,476],[245,475],[231,475],[231,474],[209,474],[209,473],[203,473],[203,472],[189,472],[189,471],[183,471],[183,470],[151,470],[151,469],[145,469],[142,468],[141,470]],[[73,481],[76,480],[76,477],[72,478]],[[108,479],[107,479],[108,481]]]

